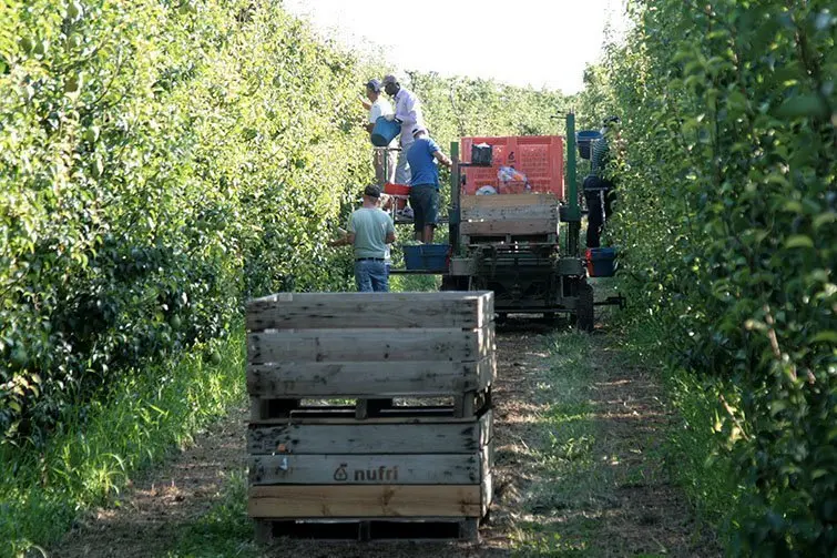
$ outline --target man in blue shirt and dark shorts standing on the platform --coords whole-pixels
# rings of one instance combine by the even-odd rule
[[[433,229],[439,221],[439,168],[437,161],[447,168],[452,165],[452,161],[430,139],[423,126],[416,126],[411,135],[414,142],[407,152],[407,160],[412,170],[410,206],[414,213],[416,239],[428,244],[433,242]]]

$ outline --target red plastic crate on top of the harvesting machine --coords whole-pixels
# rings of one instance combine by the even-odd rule
[[[488,143],[492,146],[491,166],[462,169],[466,177],[463,193],[473,195],[482,186],[498,193],[522,193],[525,184],[509,183],[507,187],[497,177],[500,166],[512,166],[527,176],[531,192],[551,192],[564,197],[564,139],[560,135],[518,135],[508,138],[462,138],[462,153],[471,145]]]

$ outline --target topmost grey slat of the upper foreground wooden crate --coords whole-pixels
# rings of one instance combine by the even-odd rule
[[[491,292],[279,293],[247,304],[247,328],[461,327],[494,318]]]

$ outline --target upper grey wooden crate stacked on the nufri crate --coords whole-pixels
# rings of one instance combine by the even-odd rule
[[[473,416],[497,371],[491,293],[283,293],[247,308],[252,420],[290,414]],[[392,407],[380,399],[409,398]],[[317,399],[312,406],[312,399]],[[351,399],[350,402],[346,399]],[[377,399],[376,406],[369,400]],[[426,409],[419,408],[428,406]],[[374,408],[372,408],[374,407]]]

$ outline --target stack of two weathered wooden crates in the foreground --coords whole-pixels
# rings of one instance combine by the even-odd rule
[[[259,538],[476,537],[491,501],[493,315],[490,292],[252,301]]]

